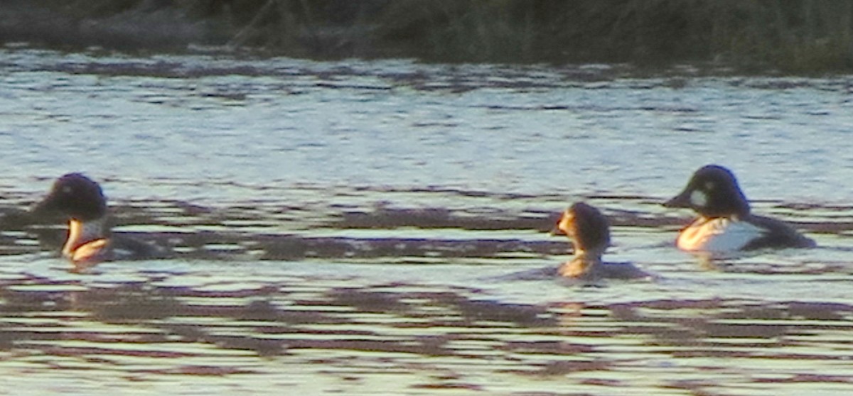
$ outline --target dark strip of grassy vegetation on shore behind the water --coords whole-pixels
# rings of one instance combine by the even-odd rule
[[[6,0],[0,41],[304,58],[853,71],[836,0]]]

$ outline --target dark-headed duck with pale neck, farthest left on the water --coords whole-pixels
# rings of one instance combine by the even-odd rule
[[[62,175],[31,210],[34,215],[59,214],[68,222],[62,256],[75,267],[90,267],[102,261],[158,258],[165,251],[153,244],[112,235],[108,223],[107,198],[101,186],[81,173]]]

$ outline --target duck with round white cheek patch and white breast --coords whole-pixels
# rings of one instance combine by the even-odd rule
[[[812,248],[815,241],[782,221],[753,215],[746,195],[731,170],[705,165],[684,190],[664,202],[667,208],[693,209],[699,216],[676,238],[680,250],[732,255],[762,249]]]

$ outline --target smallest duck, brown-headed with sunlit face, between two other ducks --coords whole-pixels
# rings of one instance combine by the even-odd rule
[[[610,246],[610,224],[595,207],[577,202],[564,210],[552,234],[565,234],[574,246],[574,257],[558,268],[564,278],[636,279],[650,274],[630,262],[604,262],[601,255]]]

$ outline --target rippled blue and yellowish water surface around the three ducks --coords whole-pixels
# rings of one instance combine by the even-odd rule
[[[0,394],[853,392],[853,78],[0,51]],[[660,207],[734,169],[820,248],[703,267]],[[84,171],[162,261],[71,273]],[[612,261],[569,284],[573,201]]]

